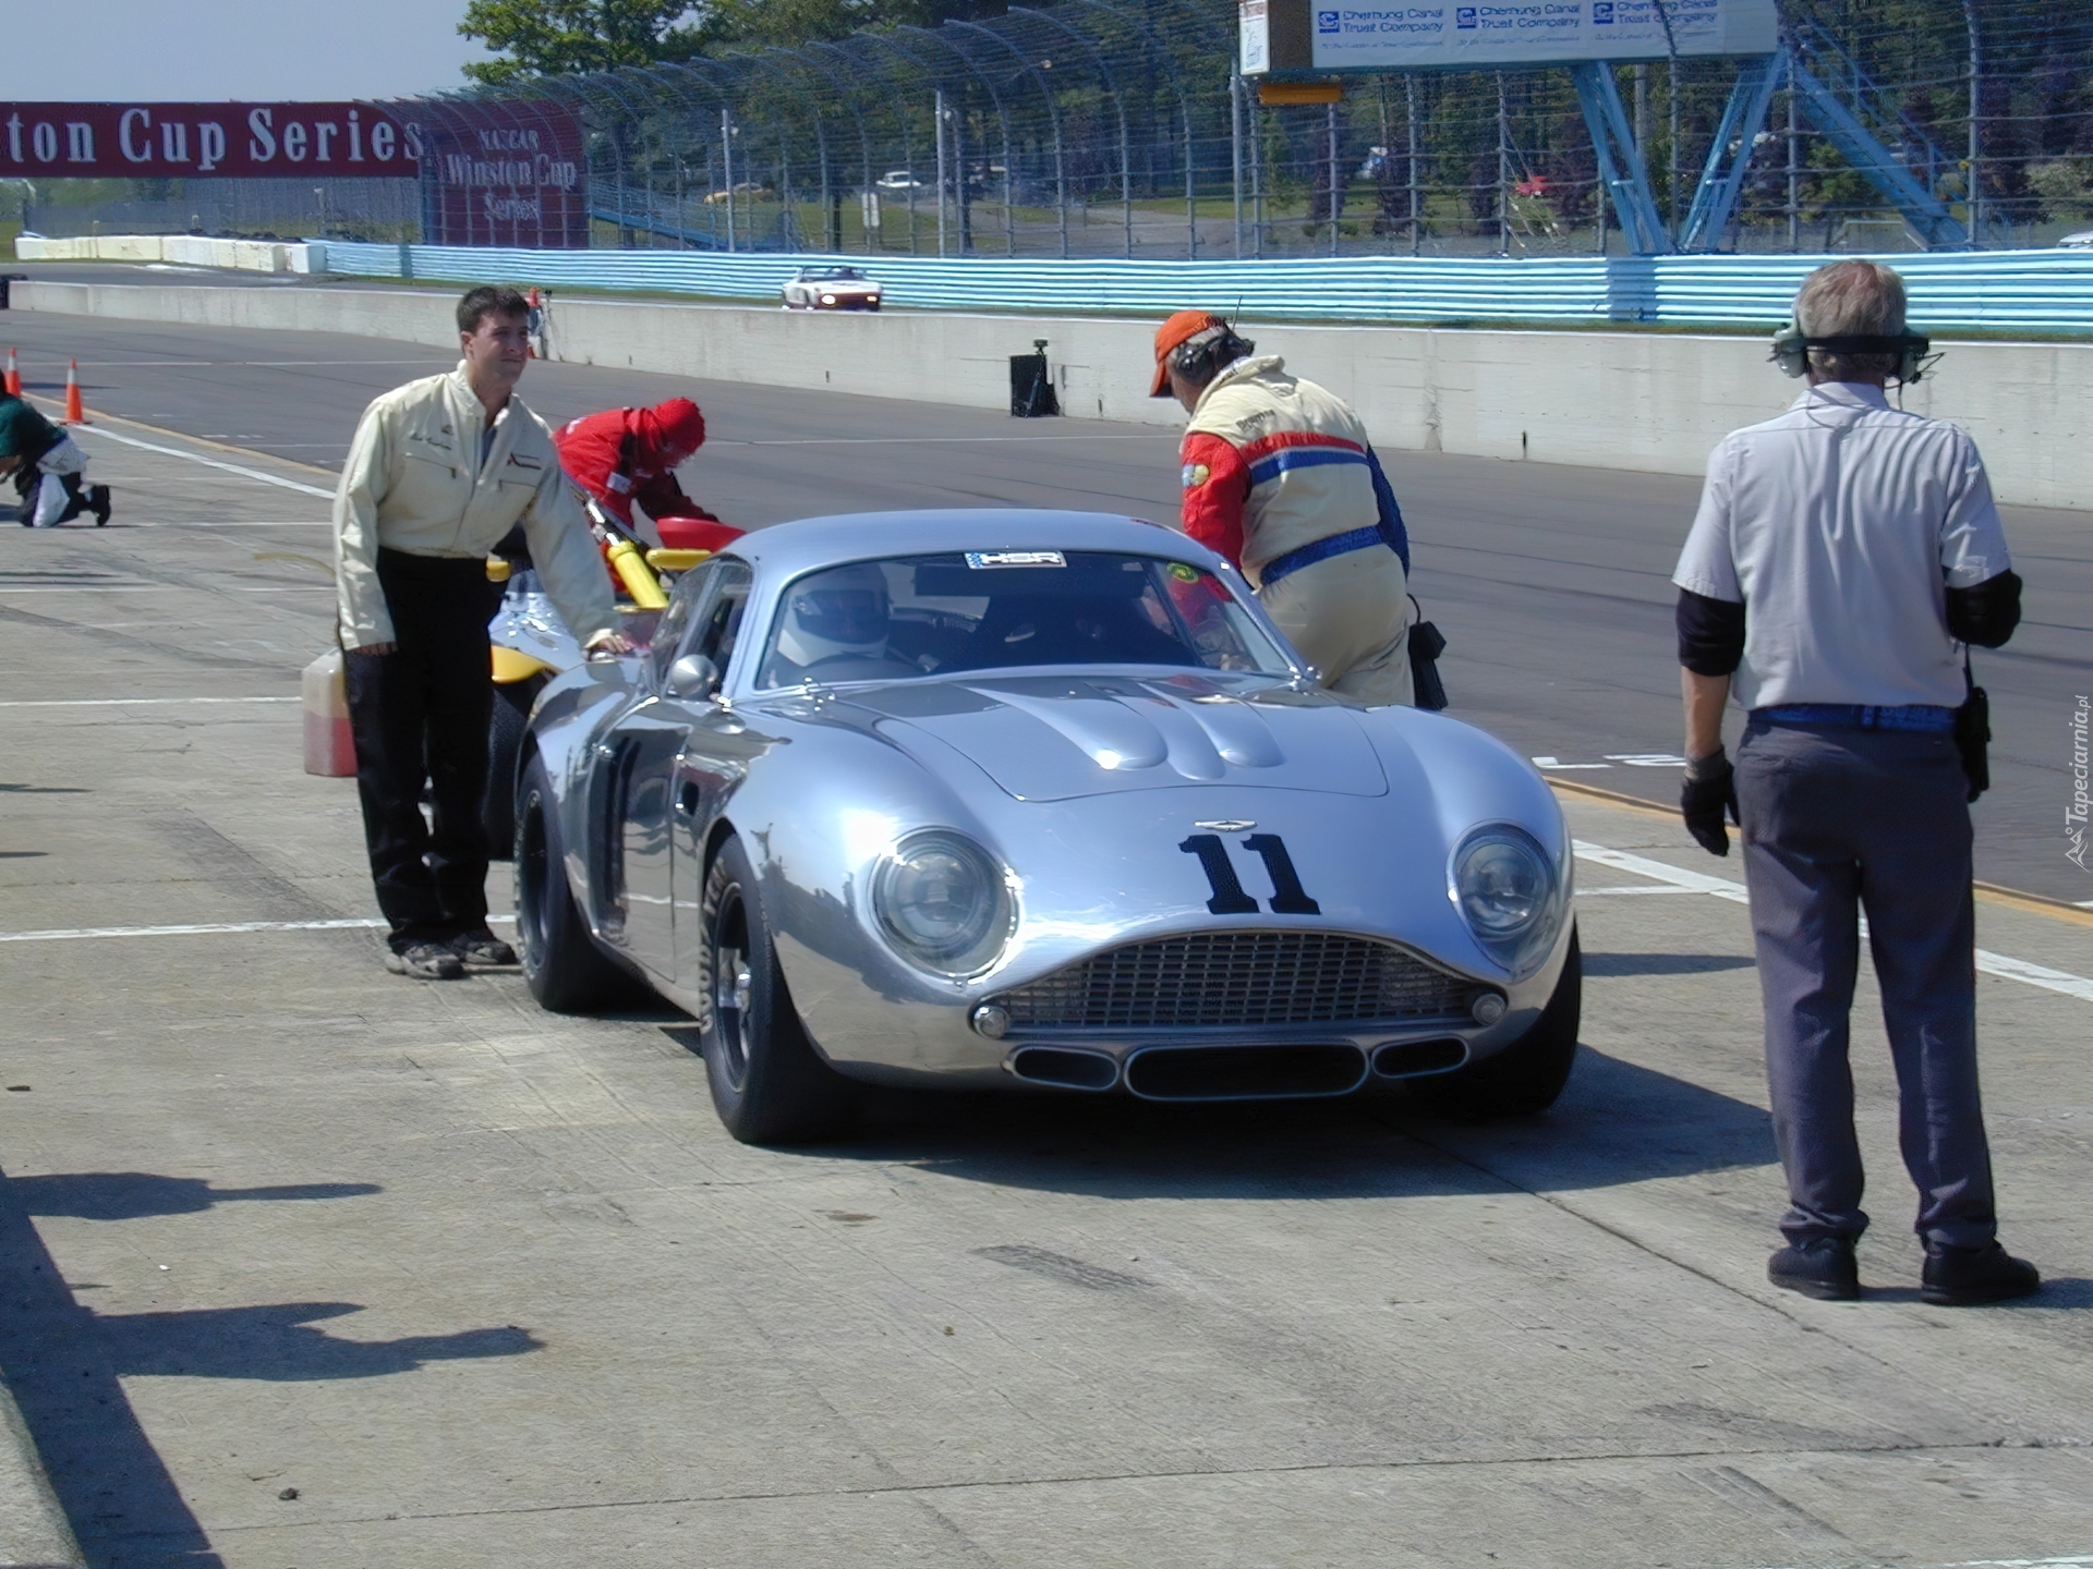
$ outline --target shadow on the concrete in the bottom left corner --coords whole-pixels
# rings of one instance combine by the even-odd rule
[[[0,1172],[0,1372],[90,1565],[220,1565],[138,1425],[123,1393],[126,1377],[373,1379],[440,1360],[517,1356],[540,1341],[515,1326],[396,1341],[335,1339],[310,1326],[316,1318],[358,1312],[345,1301],[96,1314],[73,1301],[23,1199],[31,1207],[54,1205],[38,1213],[121,1220],[182,1213],[232,1197],[320,1199],[373,1190],[354,1182],[211,1192],[182,1178],[123,1172],[25,1182],[8,1182]]]

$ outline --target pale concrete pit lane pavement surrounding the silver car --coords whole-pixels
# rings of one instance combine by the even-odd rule
[[[1869,1291],[1766,1284],[1739,891],[1597,801],[1545,1117],[747,1149],[674,1010],[379,969],[324,490],[84,439],[123,527],[0,527],[0,1370],[96,1569],[2093,1567],[2093,914],[1978,914],[2001,1310],[1917,1301],[1867,975]]]

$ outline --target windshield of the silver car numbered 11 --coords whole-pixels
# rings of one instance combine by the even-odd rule
[[[800,577],[779,600],[756,684],[1017,665],[1289,669],[1201,567],[1099,550],[969,550]]]

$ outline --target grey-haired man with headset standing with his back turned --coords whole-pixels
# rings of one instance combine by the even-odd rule
[[[1976,1071],[1970,780],[1955,743],[1963,646],[2020,621],[2020,577],[1976,444],[1890,408],[1923,345],[1903,280],[1873,262],[1819,268],[1775,343],[1808,391],[1735,431],[1679,571],[1693,837],[1743,828],[1766,1004],[1766,1077],[1792,1207],[1766,1266],[1808,1297],[1861,1295],[1848,1013],[1859,914],[1896,1063],[1905,1167],[1919,1188],[1921,1295],[2024,1297],[2034,1266],[1997,1243]],[[1748,711],[1735,772],[1723,707]]]

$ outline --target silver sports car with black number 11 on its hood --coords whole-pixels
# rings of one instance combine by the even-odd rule
[[[743,1140],[858,1082],[1538,1111],[1576,1052],[1570,839],[1507,747],[1321,692],[1243,579],[1088,513],[820,517],[550,682],[523,971],[689,1008]]]

